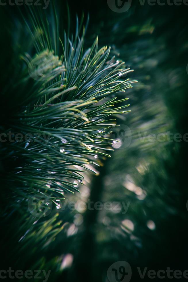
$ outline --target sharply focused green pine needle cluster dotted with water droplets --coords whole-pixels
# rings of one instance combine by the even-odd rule
[[[51,36],[49,22],[31,13],[26,23],[36,53],[21,56],[20,79],[7,94],[10,107],[18,105],[18,110],[6,121],[5,133],[28,138],[6,142],[4,161],[13,160],[9,178],[25,197],[38,191],[62,199],[65,192],[78,191],[74,181],[82,182],[85,172],[95,172],[93,167],[110,157],[105,151],[112,150],[113,140],[104,135],[115,125],[111,116],[129,112],[124,110],[128,98],[117,100],[115,95],[136,82],[123,80],[133,70],[111,56],[110,47],[98,49],[98,38],[84,51],[85,28],[80,36],[78,20],[75,37],[64,33],[59,41],[54,12],[55,21]],[[2,177],[6,181],[7,175]]]

